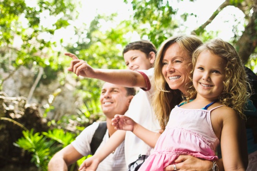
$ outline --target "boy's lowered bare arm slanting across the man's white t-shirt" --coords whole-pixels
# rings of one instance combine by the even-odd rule
[[[98,164],[104,160],[109,154],[116,150],[116,148],[125,140],[125,131],[116,131],[102,146],[100,149],[97,149],[96,153],[87,158],[81,164],[79,170],[86,168],[85,170],[96,170]]]

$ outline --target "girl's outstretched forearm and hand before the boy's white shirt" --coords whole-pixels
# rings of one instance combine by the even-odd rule
[[[155,147],[156,142],[161,135],[160,133],[155,133],[153,131],[145,129],[145,127],[136,123],[133,119],[131,119],[128,116],[117,114],[112,119],[112,122],[116,130],[131,131],[138,138],[143,140],[146,144],[148,144],[152,148]]]

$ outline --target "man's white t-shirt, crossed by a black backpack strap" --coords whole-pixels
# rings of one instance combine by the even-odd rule
[[[92,141],[93,135],[98,127],[99,123],[94,122],[93,124],[86,127],[85,130],[76,138],[75,141],[71,142],[71,145],[83,156],[91,154],[90,143]],[[106,131],[103,141],[96,150],[96,152],[103,146],[109,139],[108,130]],[[125,171],[127,170],[127,165],[125,163],[124,156],[124,142],[115,150],[114,153],[108,155],[97,167],[97,171]]]

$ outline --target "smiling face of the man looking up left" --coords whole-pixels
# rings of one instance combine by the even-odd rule
[[[113,118],[116,114],[124,114],[133,96],[127,96],[124,87],[105,82],[102,87],[100,102],[106,117]]]

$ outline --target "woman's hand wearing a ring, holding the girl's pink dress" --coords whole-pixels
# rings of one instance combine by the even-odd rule
[[[176,160],[176,168],[180,171],[208,171],[212,170],[213,163],[191,155],[180,155]],[[174,170],[174,164],[168,165],[164,170]]]

